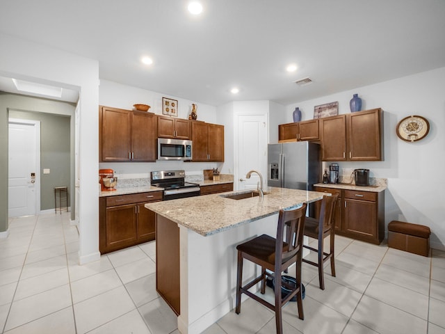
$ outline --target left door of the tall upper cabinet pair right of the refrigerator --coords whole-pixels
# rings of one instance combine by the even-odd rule
[[[321,160],[346,161],[346,116],[320,119]]]

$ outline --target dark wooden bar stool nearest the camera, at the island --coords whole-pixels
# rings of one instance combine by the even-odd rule
[[[282,334],[282,306],[293,296],[297,296],[298,317],[304,319],[301,291],[301,261],[302,238],[305,228],[305,214],[307,204],[293,210],[280,210],[277,226],[277,237],[273,238],[262,234],[250,241],[236,246],[238,250],[238,270],[236,276],[236,314],[241,312],[241,294],[247,294],[250,298],[275,311],[277,334]],[[288,226],[287,231],[284,230]],[[243,260],[249,260],[261,266],[261,275],[243,286]],[[291,264],[296,264],[297,285],[294,287],[282,282],[282,271]],[[272,271],[269,273],[266,271]],[[265,301],[249,291],[251,287],[261,282],[261,294],[266,289],[266,276],[275,278],[275,305]],[[281,282],[281,284],[280,284]],[[282,297],[282,286],[289,289],[289,293]]]

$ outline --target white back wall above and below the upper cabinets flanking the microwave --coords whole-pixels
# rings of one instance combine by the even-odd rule
[[[156,93],[151,90],[127,86],[101,79],[99,86],[99,104],[102,106],[111,106],[120,109],[133,109],[133,104],[148,104],[151,106],[149,112],[162,115],[162,97],[168,97],[178,100],[178,118],[188,119],[191,113],[192,103],[197,104],[197,120],[204,122],[221,124],[216,119],[216,107],[209,104],[181,99],[171,95]],[[226,131],[226,129],[225,129]],[[183,162],[183,161],[156,161],[154,163],[147,162],[102,162],[99,168],[112,168],[115,175],[119,178],[131,177],[149,177],[152,170],[186,170],[187,175],[200,173],[203,169],[221,168],[222,164]]]

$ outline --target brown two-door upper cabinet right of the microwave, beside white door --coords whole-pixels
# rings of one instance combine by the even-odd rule
[[[224,126],[193,120],[193,161],[224,161]]]

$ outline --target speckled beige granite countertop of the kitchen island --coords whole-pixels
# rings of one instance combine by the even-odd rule
[[[302,202],[321,200],[325,193],[268,187],[264,198],[232,200],[221,195],[243,193],[229,191],[206,196],[181,198],[145,204],[157,214],[206,237],[236,226],[271,216],[280,209],[289,209]]]

